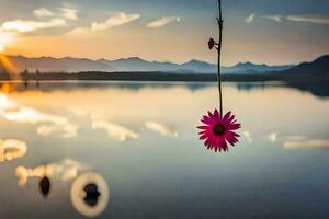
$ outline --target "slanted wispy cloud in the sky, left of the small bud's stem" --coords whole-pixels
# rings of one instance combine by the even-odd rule
[[[104,22],[92,23],[91,30],[102,31],[106,28],[112,28],[112,27],[124,25],[126,23],[133,22],[138,19],[140,19],[140,14],[127,14],[125,12],[116,12]]]

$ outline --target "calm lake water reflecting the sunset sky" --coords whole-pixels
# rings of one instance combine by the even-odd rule
[[[216,104],[215,83],[2,83],[0,218],[329,218],[329,99],[226,83],[227,153],[197,138]]]

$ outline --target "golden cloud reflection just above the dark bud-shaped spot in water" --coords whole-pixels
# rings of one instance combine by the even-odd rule
[[[69,181],[79,175],[79,172],[89,170],[90,168],[78,161],[65,159],[59,162],[39,165],[36,168],[18,166],[15,170],[19,177],[19,185],[24,186],[29,177],[43,178],[45,175],[49,178],[60,181]]]

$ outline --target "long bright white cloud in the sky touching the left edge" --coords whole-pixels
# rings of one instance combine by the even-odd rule
[[[34,32],[42,28],[66,26],[67,21],[64,19],[52,19],[50,21],[7,21],[1,25],[4,31],[16,31],[20,33]]]

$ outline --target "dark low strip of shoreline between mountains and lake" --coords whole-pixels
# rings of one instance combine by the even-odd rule
[[[167,72],[99,72],[87,71],[78,73],[22,73],[13,79],[0,74],[0,81],[143,81],[143,82],[216,82],[214,73],[167,73]],[[329,77],[318,77],[311,73],[264,73],[264,74],[223,74],[225,82],[287,82],[287,83],[328,83]]]

